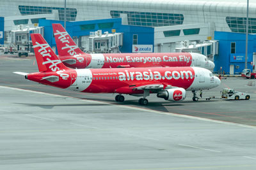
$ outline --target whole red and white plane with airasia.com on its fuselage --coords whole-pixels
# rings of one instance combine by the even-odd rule
[[[21,73],[26,79],[67,90],[88,93],[117,93],[116,101],[123,102],[122,94],[143,96],[140,104],[147,105],[151,93],[167,101],[182,101],[186,90],[212,89],[220,79],[201,67],[140,67],[108,69],[71,69],[65,66],[41,34],[31,34],[38,73]]]

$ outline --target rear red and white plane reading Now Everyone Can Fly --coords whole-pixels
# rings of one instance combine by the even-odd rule
[[[199,53],[84,53],[61,24],[52,24],[52,29],[60,60],[72,68],[215,66]]]

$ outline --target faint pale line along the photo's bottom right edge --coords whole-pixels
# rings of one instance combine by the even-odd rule
[[[124,170],[168,170],[168,169],[212,169],[225,167],[255,167],[256,164],[232,165],[232,166],[195,166],[195,167],[166,167],[166,168],[147,168],[147,169],[124,169]]]

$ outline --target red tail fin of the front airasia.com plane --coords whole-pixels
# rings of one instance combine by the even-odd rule
[[[41,34],[31,34],[39,71],[60,71],[68,69],[45,41]]]

